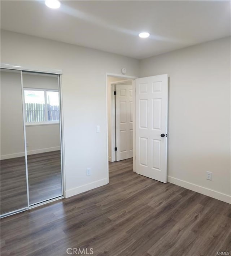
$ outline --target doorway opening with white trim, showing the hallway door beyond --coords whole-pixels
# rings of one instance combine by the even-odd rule
[[[108,162],[126,160],[135,172],[135,77],[108,74],[106,86]]]

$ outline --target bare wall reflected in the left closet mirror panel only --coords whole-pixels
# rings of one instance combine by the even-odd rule
[[[1,159],[25,156],[22,120],[20,72],[1,71]]]

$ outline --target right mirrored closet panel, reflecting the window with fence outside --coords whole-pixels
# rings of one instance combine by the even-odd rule
[[[23,72],[30,205],[62,195],[58,76]]]

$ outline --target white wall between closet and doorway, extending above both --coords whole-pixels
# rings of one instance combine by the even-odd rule
[[[112,53],[2,31],[1,62],[63,70],[65,192],[107,183],[105,73],[138,76],[139,61]],[[17,65],[16,64],[16,65]],[[96,133],[100,125],[100,133]],[[86,169],[91,175],[86,176]]]

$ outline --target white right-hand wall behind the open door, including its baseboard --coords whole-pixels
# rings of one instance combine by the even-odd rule
[[[231,203],[230,38],[140,62],[141,77],[166,73],[168,181]]]

